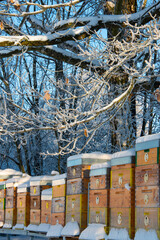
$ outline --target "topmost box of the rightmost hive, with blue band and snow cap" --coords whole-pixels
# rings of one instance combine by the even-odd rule
[[[159,164],[160,133],[136,140],[136,165]]]

